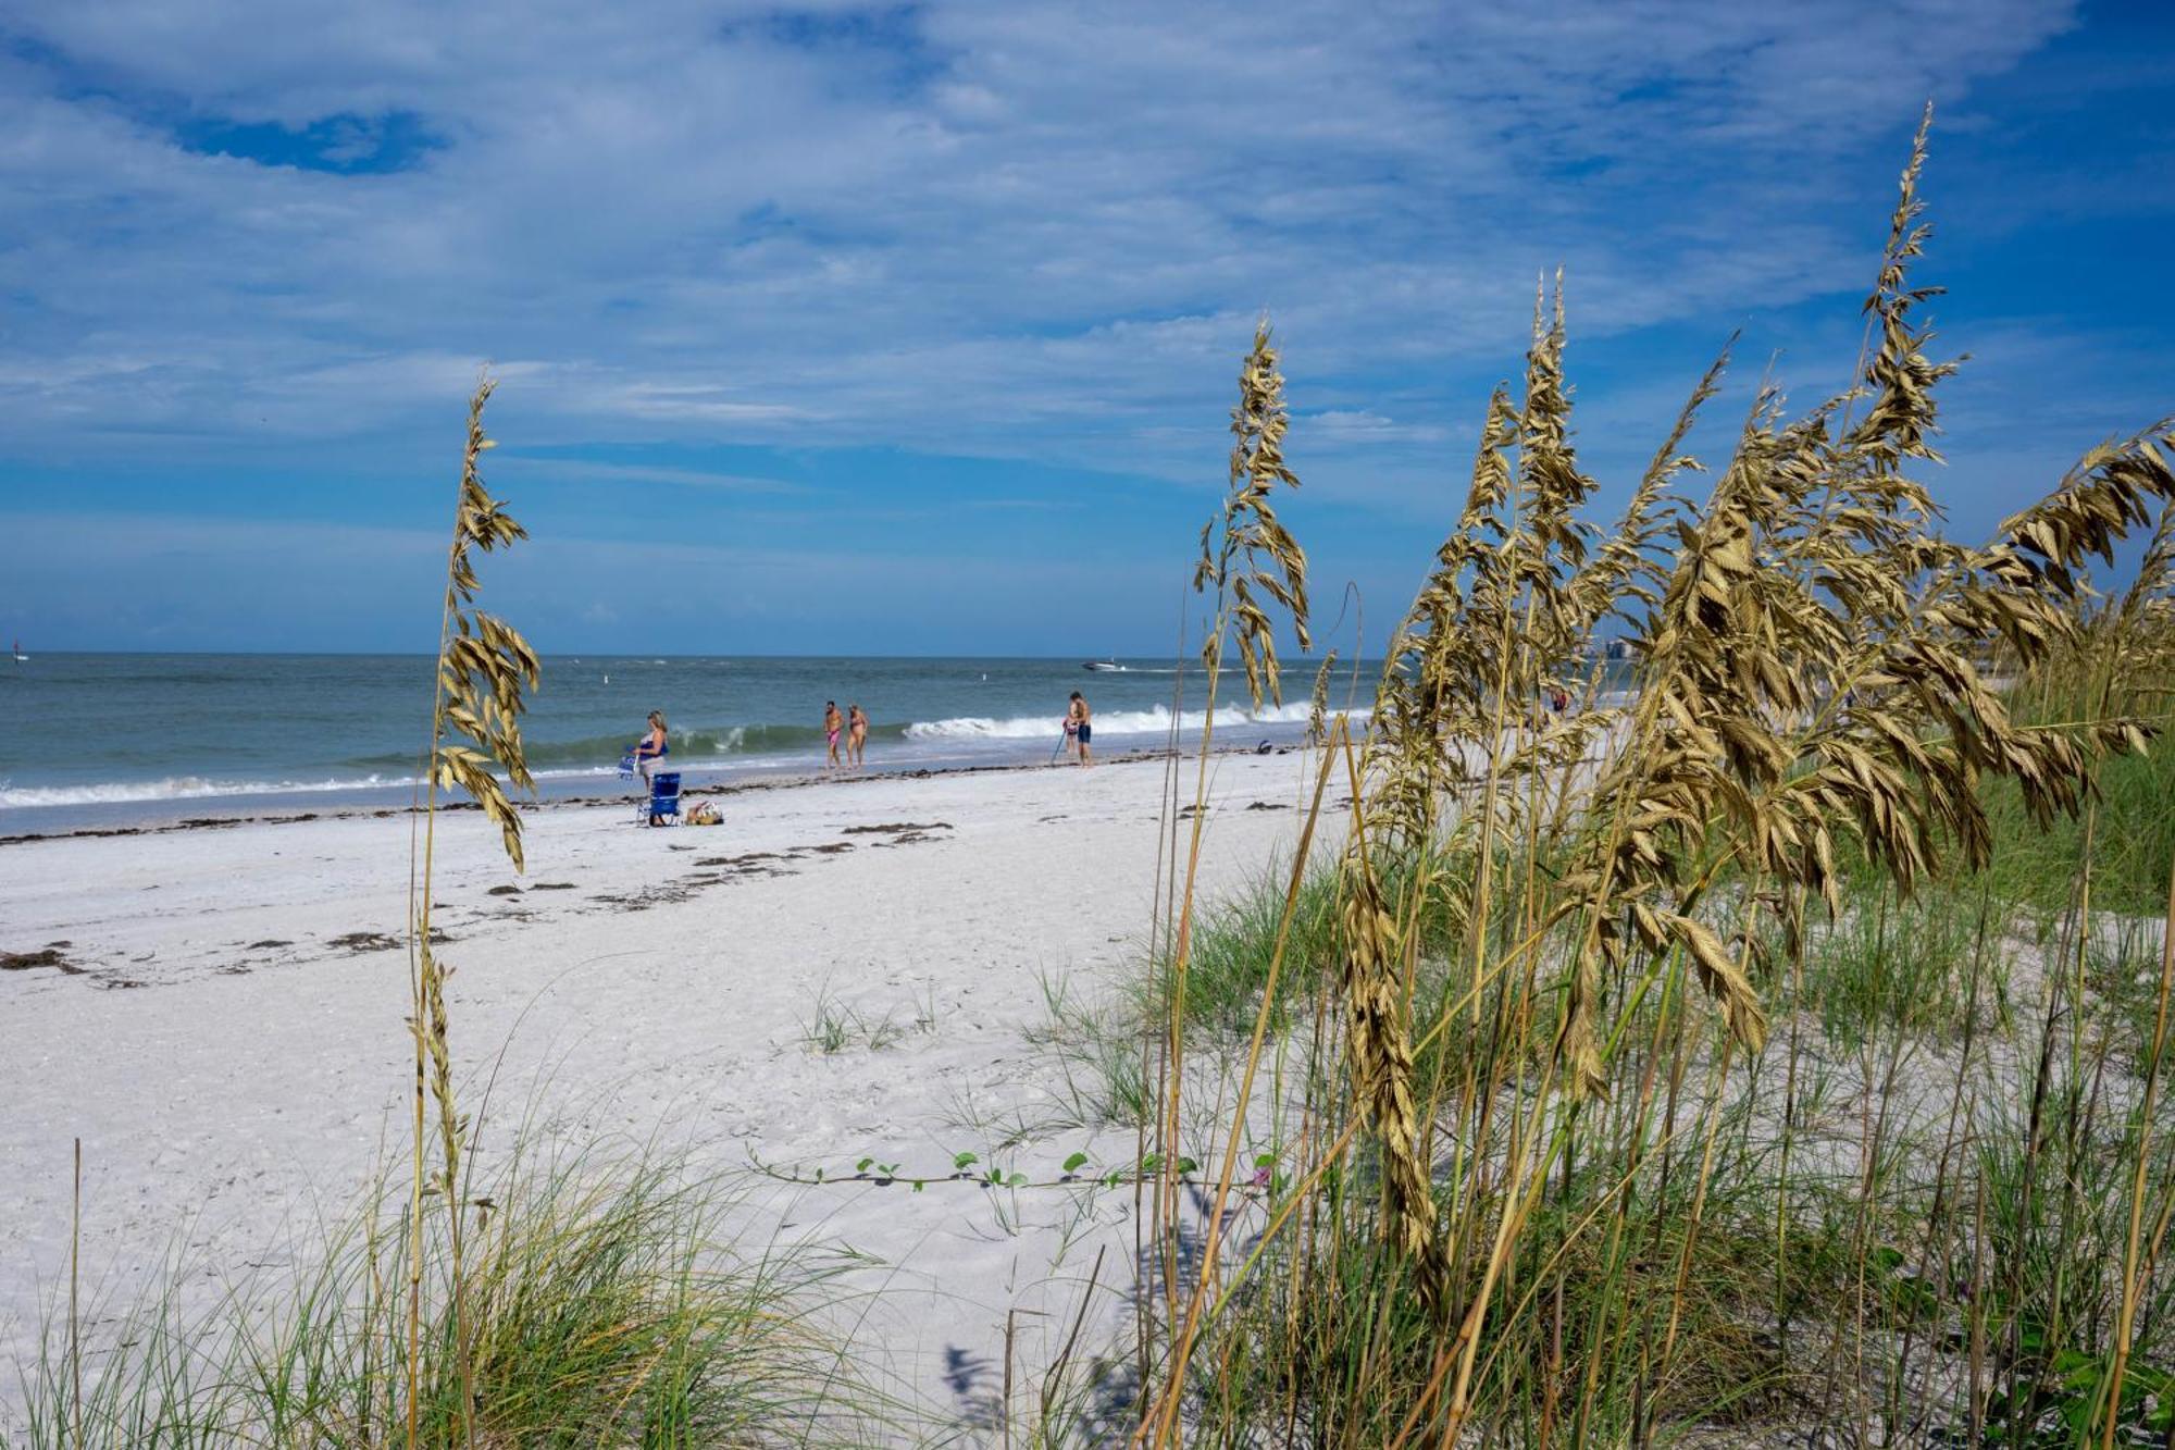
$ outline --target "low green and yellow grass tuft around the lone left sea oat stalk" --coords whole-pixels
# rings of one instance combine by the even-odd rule
[[[102,1322],[83,1398],[63,1326],[24,1385],[22,1450],[74,1446],[387,1446],[474,1435],[483,1446],[761,1446],[874,1439],[877,1396],[820,1324],[835,1261],[733,1241],[735,1191],[635,1147],[552,1152],[511,1167],[465,1243],[424,1234],[439,1308],[407,1335],[407,1184],[298,1248],[278,1282],[241,1278]],[[442,1215],[431,1215],[442,1221]],[[468,1363],[450,1306],[465,1306]],[[463,1380],[472,1413],[463,1415]],[[80,1424],[80,1437],[76,1435]]]

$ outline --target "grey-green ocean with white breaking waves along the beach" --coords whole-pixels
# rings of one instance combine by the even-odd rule
[[[1196,662],[550,655],[522,736],[542,797],[631,795],[622,751],[650,710],[687,786],[813,775],[822,708],[859,703],[868,769],[1033,764],[1066,699],[1094,705],[1098,751],[1201,729]],[[0,836],[407,806],[431,725],[428,655],[0,655]],[[1292,662],[1281,708],[1242,710],[1225,677],[1218,736],[1296,740],[1314,668]]]

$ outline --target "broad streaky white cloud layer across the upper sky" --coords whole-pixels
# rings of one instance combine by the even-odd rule
[[[0,455],[370,444],[511,357],[524,444],[1079,448],[1211,479],[1268,309],[1309,446],[1418,468],[1477,398],[1412,379],[1514,366],[1540,268],[1568,263],[1583,335],[1860,285],[1886,185],[1840,231],[1838,192],[2075,7],[792,13],[13,7]],[[361,146],[385,115],[439,146],[326,174],[181,139]]]

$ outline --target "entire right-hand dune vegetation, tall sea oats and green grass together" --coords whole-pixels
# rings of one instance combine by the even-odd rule
[[[1857,383],[1794,418],[1762,388],[1703,499],[1683,440],[1727,355],[1599,531],[1538,298],[1370,734],[1325,723],[1327,856],[1181,890],[1133,993],[1146,1145],[1220,1163],[1151,1206],[1133,1443],[2175,1446],[2175,954],[2147,930],[2175,925],[2175,435],[1944,538],[1925,155]],[[1220,557],[1296,483],[1246,464],[1272,377],[1257,346]],[[2088,588],[2145,529],[2134,581]],[[1275,681],[1253,581],[1203,570],[1211,695],[1227,638]],[[1170,821],[1188,882],[1198,816]],[[1201,1141],[1179,1104],[1222,1062]]]

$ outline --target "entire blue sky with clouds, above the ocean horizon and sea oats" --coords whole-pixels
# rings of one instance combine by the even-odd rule
[[[1379,640],[1538,272],[1607,512],[1731,331],[1718,425],[1847,381],[1927,98],[1979,536],[2175,409],[2168,54],[2073,0],[17,0],[0,636],[428,649],[489,359],[544,649],[1170,653],[1268,311]]]

